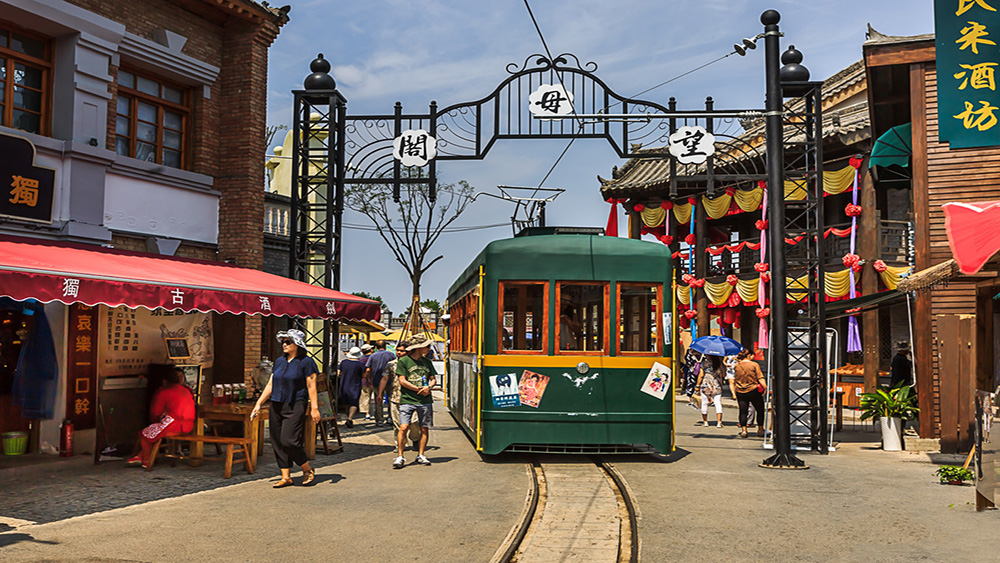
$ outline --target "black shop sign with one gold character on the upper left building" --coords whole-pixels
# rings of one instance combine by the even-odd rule
[[[35,145],[0,133],[0,217],[37,223],[52,222],[56,171],[35,164]]]

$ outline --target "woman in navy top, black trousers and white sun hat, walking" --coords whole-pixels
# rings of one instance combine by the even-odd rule
[[[292,463],[302,467],[302,484],[309,485],[316,478],[316,470],[309,467],[309,457],[303,448],[302,431],[306,422],[306,398],[312,405],[313,422],[319,422],[316,402],[316,362],[306,355],[306,335],[301,330],[278,333],[284,355],[274,362],[271,379],[257,399],[250,418],[257,418],[260,406],[271,399],[271,445],[274,458],[281,470],[281,479],[272,485],[275,489],[292,484]]]

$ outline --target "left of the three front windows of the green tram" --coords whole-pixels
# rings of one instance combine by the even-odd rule
[[[504,350],[543,350],[545,284],[504,282],[500,337]]]

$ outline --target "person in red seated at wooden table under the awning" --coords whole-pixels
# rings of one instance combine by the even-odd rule
[[[191,389],[181,384],[182,381],[184,372],[174,368],[164,380],[163,387],[153,394],[149,405],[151,424],[139,433],[142,451],[128,460],[129,465],[146,467],[153,444],[160,438],[187,434],[194,429],[194,395]]]

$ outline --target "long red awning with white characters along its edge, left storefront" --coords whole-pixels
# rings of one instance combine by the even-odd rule
[[[0,236],[0,295],[43,303],[334,320],[380,315],[376,301],[259,270],[6,236]]]

